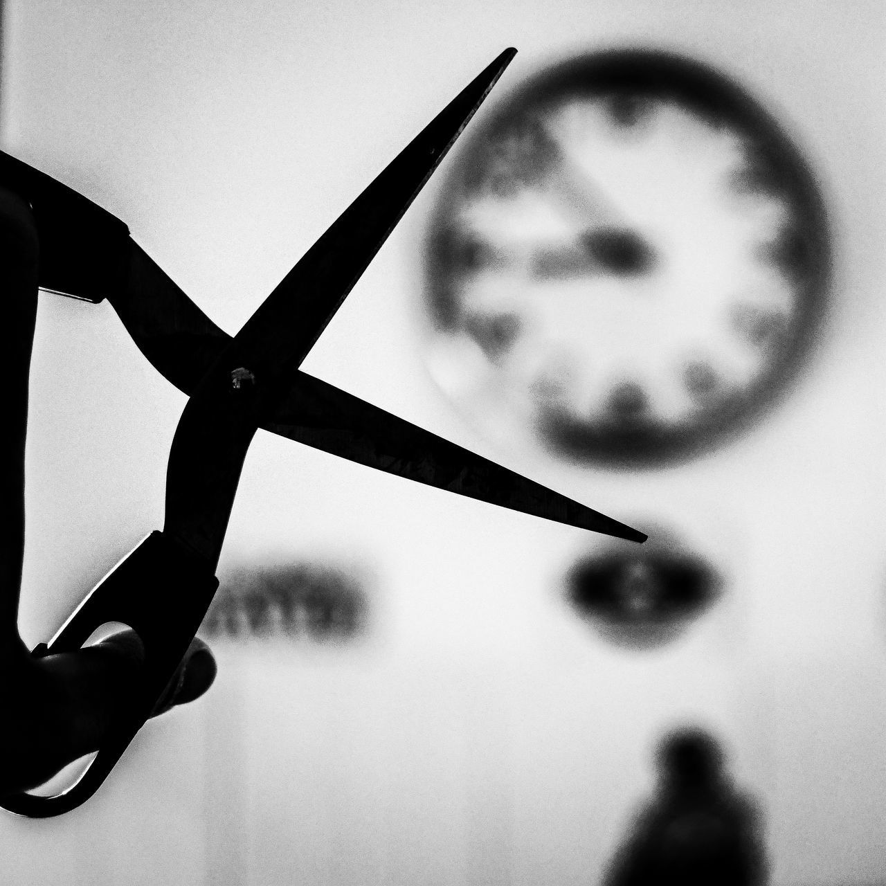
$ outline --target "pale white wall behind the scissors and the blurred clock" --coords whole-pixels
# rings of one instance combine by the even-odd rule
[[[793,396],[668,470],[495,451],[416,330],[434,183],[305,368],[615,517],[670,523],[727,575],[683,641],[611,649],[557,595],[586,533],[261,435],[220,568],[321,552],[372,577],[354,649],[221,646],[205,701],[144,730],[84,808],[0,821],[22,884],[593,882],[684,715],[767,806],[775,880],[886,877],[882,4],[856,0],[7,0],[3,148],[126,220],[233,331],[505,46],[499,89],[642,41],[708,59],[789,121],[825,184],[834,309]],[[183,406],[107,305],[41,297],[22,626],[43,639],[160,525]]]

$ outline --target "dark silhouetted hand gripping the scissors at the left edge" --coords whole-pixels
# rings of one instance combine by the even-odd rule
[[[76,652],[32,657],[18,633],[25,540],[27,380],[37,304],[39,242],[31,207],[0,185],[0,796],[42,784],[97,750],[144,691],[144,650],[132,631]],[[195,640],[154,715],[206,692],[215,660]]]

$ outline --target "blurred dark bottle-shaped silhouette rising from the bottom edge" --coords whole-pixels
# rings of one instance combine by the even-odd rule
[[[657,750],[657,794],[618,849],[604,886],[758,886],[766,851],[757,804],[734,787],[711,734],[687,727]]]

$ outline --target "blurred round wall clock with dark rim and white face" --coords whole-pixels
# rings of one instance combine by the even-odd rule
[[[500,105],[444,185],[431,371],[500,433],[683,457],[784,387],[828,266],[804,159],[734,82],[662,52],[579,58]]]

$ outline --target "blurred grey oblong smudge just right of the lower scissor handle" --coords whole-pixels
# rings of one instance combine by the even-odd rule
[[[348,571],[318,563],[240,570],[215,595],[202,633],[214,638],[353,640],[366,629],[367,600]]]

